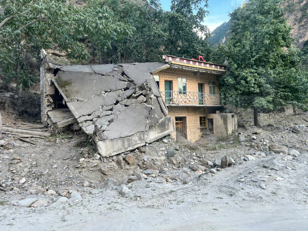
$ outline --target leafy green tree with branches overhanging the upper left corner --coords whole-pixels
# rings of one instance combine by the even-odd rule
[[[128,24],[116,22],[107,7],[76,7],[66,0],[3,0],[0,8],[0,74],[6,82],[15,78],[24,88],[35,81],[27,62],[34,48],[58,46],[71,59],[87,60],[90,55],[81,39],[89,39],[107,51],[112,40],[133,30]]]

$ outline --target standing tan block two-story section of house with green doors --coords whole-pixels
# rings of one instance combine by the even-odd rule
[[[163,55],[163,59],[169,67],[152,75],[168,115],[187,140],[200,139],[202,128],[213,130],[216,136],[227,136],[237,129],[237,115],[221,113],[218,79],[227,72],[226,66],[171,55]]]

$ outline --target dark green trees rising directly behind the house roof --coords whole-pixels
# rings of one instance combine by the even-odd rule
[[[135,4],[131,1],[105,0],[91,3],[88,7],[108,6],[115,20],[128,23],[136,30],[129,36],[119,36],[111,41],[111,49],[101,52],[99,63],[156,62],[163,54],[196,58],[202,55],[210,60],[212,47],[207,42],[208,28],[202,25],[208,14],[204,9],[207,0],[172,1],[170,11],[164,11],[158,0]],[[205,38],[199,36],[203,34]]]

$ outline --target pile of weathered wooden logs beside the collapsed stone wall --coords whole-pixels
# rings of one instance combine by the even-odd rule
[[[10,134],[19,140],[23,140],[29,143],[29,140],[24,138],[46,138],[50,137],[51,133],[47,132],[49,128],[44,124],[28,124],[21,123],[20,125],[2,126],[2,133]]]

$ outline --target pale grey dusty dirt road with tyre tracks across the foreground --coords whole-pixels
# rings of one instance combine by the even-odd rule
[[[307,230],[307,160],[275,154],[188,184],[138,180],[126,197],[115,188],[71,205],[2,205],[0,230]]]

